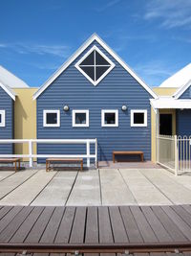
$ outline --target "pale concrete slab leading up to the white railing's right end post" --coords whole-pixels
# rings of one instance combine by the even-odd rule
[[[78,173],[67,205],[101,205],[97,171]]]

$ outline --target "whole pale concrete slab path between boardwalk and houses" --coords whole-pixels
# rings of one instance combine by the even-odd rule
[[[164,169],[0,172],[0,205],[191,204],[191,175]]]

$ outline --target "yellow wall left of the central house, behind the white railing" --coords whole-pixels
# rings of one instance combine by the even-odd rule
[[[36,139],[36,101],[32,96],[37,88],[14,89],[16,100],[14,103],[14,138]],[[15,144],[17,154],[28,154],[28,144]],[[33,152],[36,152],[34,145]],[[24,159],[27,160],[27,159]]]

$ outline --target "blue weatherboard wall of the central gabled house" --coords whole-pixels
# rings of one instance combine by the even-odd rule
[[[77,60],[94,45],[116,64],[115,68],[96,86],[74,67]],[[138,81],[95,41],[37,98],[37,138],[97,138],[99,160],[111,160],[114,150],[144,151],[145,159],[150,160],[149,99],[151,98],[152,96]],[[64,105],[70,106],[69,112],[63,111]],[[122,105],[128,106],[126,112],[121,110]],[[138,108],[148,111],[146,128],[131,128],[130,110]],[[43,128],[43,109],[60,109],[60,128]],[[89,109],[89,128],[72,127],[73,109]],[[101,109],[118,109],[118,128],[101,127]],[[37,151],[38,153],[84,153],[85,147],[38,145]]]

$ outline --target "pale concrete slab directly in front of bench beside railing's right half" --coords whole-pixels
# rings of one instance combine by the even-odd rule
[[[32,201],[32,205],[62,205],[66,204],[77,172],[60,172],[54,175],[46,188]]]

